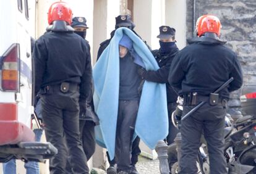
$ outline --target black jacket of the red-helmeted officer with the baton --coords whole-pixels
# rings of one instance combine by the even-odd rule
[[[169,72],[169,83],[179,94],[196,91],[208,96],[229,78],[228,88],[220,91],[223,98],[242,86],[242,70],[236,54],[218,39],[201,37],[190,41],[174,58]]]

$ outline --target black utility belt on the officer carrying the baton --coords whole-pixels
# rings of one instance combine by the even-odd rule
[[[209,96],[203,96],[197,92],[184,94],[184,106],[195,106],[202,101],[208,102],[210,106],[221,104],[223,107],[226,107],[227,102],[226,99],[221,98],[219,94],[216,93],[211,93]]]

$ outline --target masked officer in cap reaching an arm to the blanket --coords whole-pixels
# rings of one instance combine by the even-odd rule
[[[139,68],[139,75],[147,80],[156,83],[166,83],[167,92],[167,102],[168,102],[168,116],[169,116],[169,134],[166,138],[168,145],[174,142],[174,138],[177,135],[177,128],[173,125],[171,121],[171,114],[176,109],[176,101],[178,94],[168,83],[168,75],[173,62],[174,56],[176,56],[179,49],[176,46],[175,40],[176,30],[169,26],[160,27],[160,49],[152,51],[153,56],[158,62],[159,69],[157,71],[145,70],[144,68]]]

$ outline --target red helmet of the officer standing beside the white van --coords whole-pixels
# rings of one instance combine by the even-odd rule
[[[64,20],[69,25],[72,23],[72,10],[66,2],[54,2],[49,7],[48,11],[48,23],[51,25],[54,20]]]

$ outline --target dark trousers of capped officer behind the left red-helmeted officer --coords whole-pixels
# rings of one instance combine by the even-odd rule
[[[95,123],[88,120],[79,120],[80,138],[82,141],[83,151],[89,160],[95,152]],[[66,173],[73,174],[74,170],[70,166],[70,157],[67,160]]]

